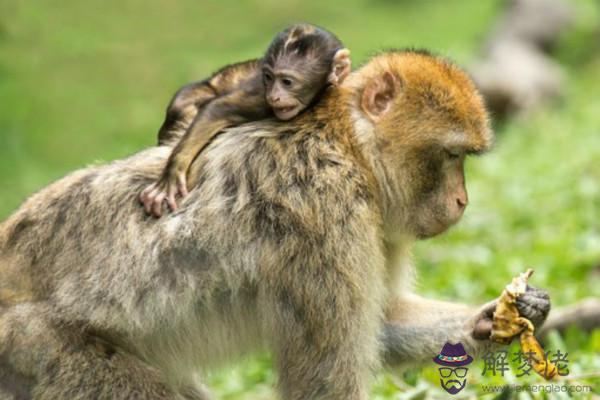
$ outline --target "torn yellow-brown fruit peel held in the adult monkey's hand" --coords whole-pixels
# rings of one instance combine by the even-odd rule
[[[504,288],[498,300],[490,339],[497,343],[509,344],[520,334],[521,350],[531,367],[543,378],[550,380],[556,376],[557,368],[545,356],[544,349],[533,335],[533,324],[519,315],[517,298],[527,290],[527,280],[533,274],[530,268],[513,278]]]

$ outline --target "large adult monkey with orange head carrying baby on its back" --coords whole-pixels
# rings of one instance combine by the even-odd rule
[[[486,348],[493,307],[410,295],[401,266],[461,217],[464,158],[491,139],[462,71],[390,52],[292,122],[220,135],[160,220],[136,194],[169,149],[73,173],[0,225],[0,394],[204,399],[195,368],[264,345],[284,399],[365,399],[382,342],[393,361]]]

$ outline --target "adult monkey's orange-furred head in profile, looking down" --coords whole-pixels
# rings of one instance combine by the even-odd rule
[[[491,134],[482,100],[464,73],[434,65],[440,73],[415,58],[404,76],[383,71],[372,77],[361,108],[386,168],[385,193],[393,194],[391,228],[429,238],[462,217],[465,159],[486,150]]]

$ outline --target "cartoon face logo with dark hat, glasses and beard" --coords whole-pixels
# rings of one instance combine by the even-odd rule
[[[466,376],[469,371],[464,366],[473,362],[473,357],[467,354],[462,343],[446,342],[440,354],[433,357],[433,362],[441,365],[438,371],[442,389],[450,394],[456,394],[463,390],[467,384]]]

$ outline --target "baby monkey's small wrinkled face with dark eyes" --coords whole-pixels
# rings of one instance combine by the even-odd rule
[[[312,102],[327,82],[326,72],[298,68],[278,68],[265,65],[263,80],[266,100],[277,118],[294,118]]]

